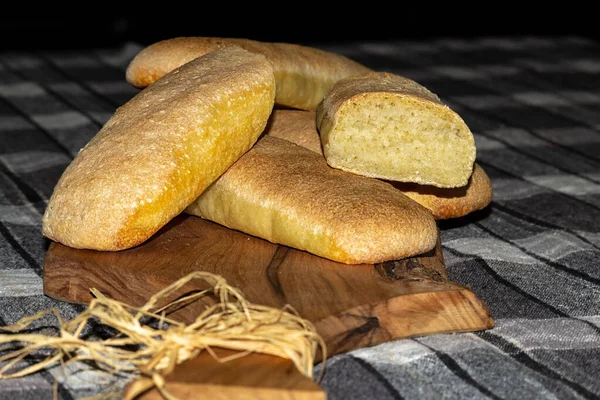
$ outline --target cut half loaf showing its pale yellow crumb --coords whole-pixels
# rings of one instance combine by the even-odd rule
[[[373,178],[465,186],[475,141],[462,118],[425,87],[387,72],[341,79],[317,109],[329,165]]]

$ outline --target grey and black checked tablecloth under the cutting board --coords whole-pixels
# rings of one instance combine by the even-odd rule
[[[52,306],[65,319],[82,311],[43,294],[41,215],[78,150],[137,93],[124,71],[141,48],[0,53],[0,325]],[[482,37],[322,48],[437,93],[471,127],[494,188],[489,209],[440,228],[450,279],[488,305],[496,327],[335,356],[321,382],[328,398],[600,398],[600,44]],[[0,399],[51,399],[59,372],[0,381]],[[69,380],[58,393],[97,390]]]

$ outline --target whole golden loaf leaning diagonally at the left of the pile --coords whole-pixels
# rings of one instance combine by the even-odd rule
[[[271,64],[238,47],[165,75],[117,109],[66,168],[44,235],[106,251],[144,242],[254,145],[274,97]]]

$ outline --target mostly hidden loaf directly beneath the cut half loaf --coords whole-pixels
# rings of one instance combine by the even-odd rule
[[[274,110],[266,134],[288,140],[323,154],[314,111]],[[466,186],[438,188],[415,183],[389,182],[403,194],[429,209],[437,220],[459,218],[490,204],[493,189],[489,177],[477,163]]]

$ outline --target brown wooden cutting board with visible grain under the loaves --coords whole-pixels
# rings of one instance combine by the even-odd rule
[[[328,357],[398,338],[494,325],[471,290],[448,280],[439,240],[434,250],[419,257],[346,265],[184,214],[144,244],[125,251],[77,250],[51,243],[44,260],[44,292],[59,300],[88,303],[89,289],[95,287],[138,306],[197,270],[225,277],[253,303],[277,308],[290,304],[313,322],[327,344]],[[190,283],[165,302],[198,289],[202,287]],[[194,303],[170,316],[190,322],[202,307]],[[235,364],[231,368],[235,370]],[[254,365],[249,370],[258,369]],[[180,369],[177,378],[176,370],[172,381],[189,380],[181,378],[185,371],[189,368]],[[263,381],[269,376],[258,375],[255,386],[262,385],[260,376]],[[200,383],[206,383],[208,378],[202,379]],[[211,379],[214,382],[214,376]]]

